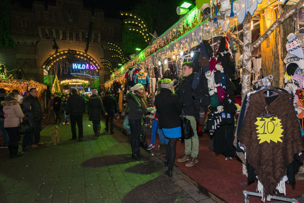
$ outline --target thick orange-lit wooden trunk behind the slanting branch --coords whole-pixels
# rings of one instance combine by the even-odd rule
[[[260,13],[260,17],[260,30],[261,35],[263,35],[269,26],[277,20],[278,12],[274,9],[264,10],[263,13]],[[273,75],[272,85],[276,87],[283,86],[282,44],[279,27],[261,43],[262,75],[263,77]]]

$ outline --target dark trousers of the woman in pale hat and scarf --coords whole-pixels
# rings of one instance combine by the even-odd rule
[[[142,128],[142,119],[129,119],[129,125],[131,130],[131,149],[132,154],[137,154],[140,152],[141,140],[141,128]]]

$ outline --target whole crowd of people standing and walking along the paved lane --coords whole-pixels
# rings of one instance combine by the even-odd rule
[[[198,136],[196,132],[196,120],[199,115],[193,102],[192,83],[194,79],[193,64],[184,62],[182,64],[183,78],[178,82],[171,79],[162,79],[157,82],[157,91],[152,98],[152,106],[148,107],[145,88],[142,84],[134,85],[125,95],[125,120],[123,127],[129,134],[132,158],[140,160],[143,155],[140,152],[140,136],[143,130],[143,120],[146,114],[153,115],[151,144],[148,150],[155,147],[155,134],[158,132],[160,145],[154,150],[155,154],[165,156],[165,165],[168,166],[166,174],[172,177],[172,170],[176,159],[176,144],[181,138],[180,115],[183,113],[190,121],[194,136],[185,139],[185,151],[178,162],[186,162],[185,166],[193,166],[198,162]],[[77,139],[76,124],[78,125],[78,140],[83,140],[83,114],[88,110],[88,118],[92,121],[94,137],[100,134],[100,120],[103,115],[105,120],[105,131],[113,134],[114,115],[118,106],[112,91],[107,90],[103,98],[100,97],[96,89],[92,90],[92,95],[85,101],[85,98],[73,89],[70,94],[58,96],[57,93],[51,95],[47,104],[48,122],[60,124],[71,123],[72,140]],[[37,89],[31,88],[29,94],[23,98],[17,90],[6,94],[4,89],[0,89],[2,100],[0,115],[0,130],[5,142],[0,147],[8,147],[10,158],[20,155],[18,153],[18,125],[22,118],[27,118],[33,124],[33,130],[23,137],[22,151],[26,152],[32,148],[38,148],[44,143],[40,142],[40,132],[42,120],[45,119],[44,110],[38,98]],[[63,118],[60,115],[63,115]],[[61,122],[62,121],[62,122]],[[109,126],[110,125],[110,126]]]

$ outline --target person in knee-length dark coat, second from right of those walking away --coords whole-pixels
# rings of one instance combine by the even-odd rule
[[[92,90],[92,92],[95,91]],[[94,137],[98,137],[100,132],[100,120],[102,120],[102,115],[106,114],[103,101],[97,94],[93,93],[89,98],[88,107],[89,120],[93,123]]]

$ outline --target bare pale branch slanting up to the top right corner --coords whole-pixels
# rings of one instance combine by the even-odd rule
[[[296,3],[293,7],[285,11],[281,14],[281,17],[278,18],[269,28],[263,33],[263,35],[257,39],[251,47],[251,50],[255,50],[264,40],[266,40],[271,33],[280,25],[282,24],[287,18],[289,18],[291,15],[299,11],[303,7],[304,0],[300,0],[298,3]]]

